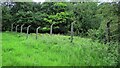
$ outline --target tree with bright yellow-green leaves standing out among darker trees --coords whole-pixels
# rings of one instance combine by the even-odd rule
[[[55,3],[52,5],[53,13],[48,15],[44,20],[51,24],[50,34],[52,34],[52,26],[66,23],[66,20],[69,19],[70,14],[67,12],[65,3]],[[59,26],[58,26],[59,27]],[[60,27],[59,27],[60,28]]]

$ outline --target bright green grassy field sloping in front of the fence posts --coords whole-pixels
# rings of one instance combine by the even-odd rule
[[[115,65],[117,49],[108,53],[108,45],[87,38],[70,36],[2,33],[3,66],[99,66]],[[114,49],[114,48],[113,48]],[[115,53],[114,53],[115,52]]]

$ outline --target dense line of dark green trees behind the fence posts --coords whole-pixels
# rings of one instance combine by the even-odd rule
[[[10,31],[15,23],[24,24],[23,32],[31,25],[30,32],[40,26],[41,33],[50,32],[52,27],[55,34],[69,35],[74,22],[76,36],[120,41],[120,2],[4,2],[1,6],[2,31]]]

